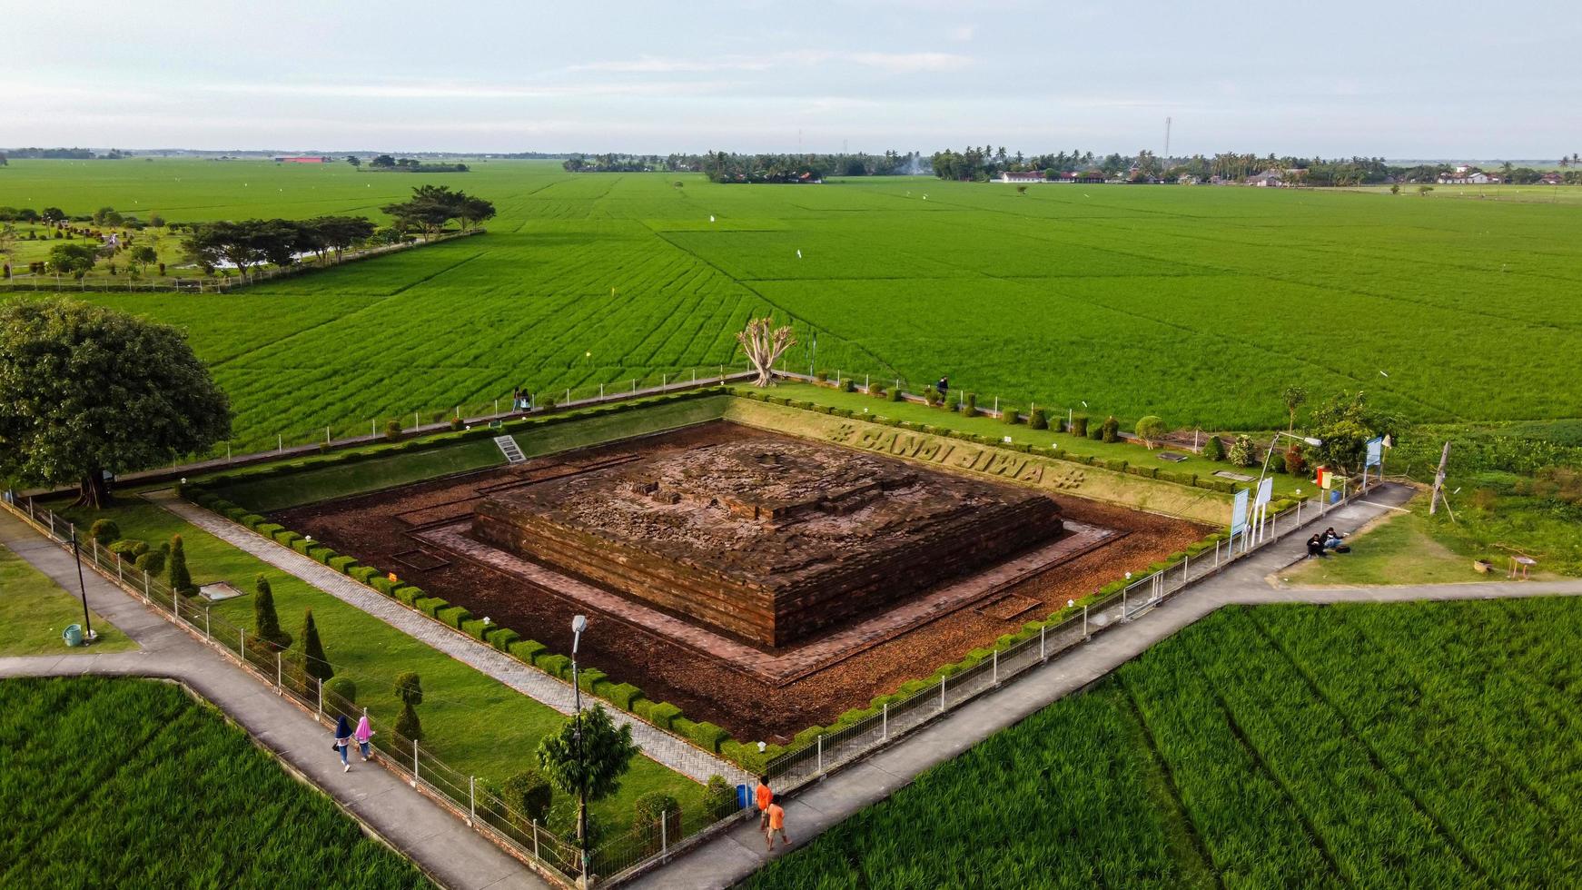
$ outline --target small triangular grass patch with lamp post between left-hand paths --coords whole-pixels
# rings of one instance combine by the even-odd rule
[[[98,640],[68,650],[60,634],[82,623],[82,601],[0,544],[0,656],[68,651],[125,651],[138,648],[127,634],[90,610]]]

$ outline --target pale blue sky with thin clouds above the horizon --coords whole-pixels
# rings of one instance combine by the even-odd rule
[[[0,16],[0,145],[1582,152],[1550,2],[84,0]]]

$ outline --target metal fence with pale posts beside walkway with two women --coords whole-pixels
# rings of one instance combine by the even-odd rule
[[[17,500],[6,492],[6,509],[25,520],[41,534],[65,549],[71,549],[76,528],[70,520],[52,511],[35,506],[32,500]],[[362,708],[340,697],[332,689],[307,673],[304,662],[283,653],[266,640],[250,635],[247,628],[215,617],[201,604],[191,604],[180,594],[138,569],[117,555],[98,545],[97,541],[78,539],[84,563],[122,590],[142,599],[165,618],[187,628],[193,635],[221,651],[237,664],[250,669],[282,697],[288,697],[316,721],[332,729],[335,719],[358,719]],[[535,866],[541,874],[566,885],[574,885],[581,876],[581,854],[573,843],[513,809],[486,783],[464,773],[433,756],[414,738],[399,733],[394,726],[380,726],[373,737],[375,762],[400,775],[410,786],[427,794],[440,805],[460,816],[468,825],[506,847],[517,858]]]

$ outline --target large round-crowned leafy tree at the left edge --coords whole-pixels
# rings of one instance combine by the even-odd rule
[[[109,501],[104,473],[207,449],[231,403],[180,330],[74,300],[0,308],[0,476],[76,482]]]

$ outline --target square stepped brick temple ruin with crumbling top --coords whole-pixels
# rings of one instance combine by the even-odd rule
[[[489,495],[471,537],[764,647],[1062,536],[1028,488],[748,438]]]

